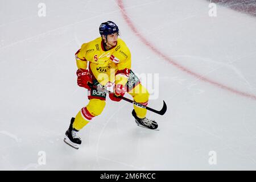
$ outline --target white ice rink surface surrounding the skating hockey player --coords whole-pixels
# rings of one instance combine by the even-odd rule
[[[255,170],[256,17],[218,4],[210,17],[208,5],[0,0],[0,169]],[[107,98],[75,150],[64,133],[88,99],[74,55],[106,20],[121,30],[133,71],[159,77],[148,106],[164,100],[167,112],[147,113],[160,131],[142,129],[130,103]]]

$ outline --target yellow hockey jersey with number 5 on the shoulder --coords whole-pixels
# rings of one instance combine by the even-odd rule
[[[131,53],[122,39],[117,39],[117,45],[109,51],[104,51],[102,39],[97,38],[82,44],[76,52],[77,68],[86,69],[100,82],[125,85],[131,69]]]

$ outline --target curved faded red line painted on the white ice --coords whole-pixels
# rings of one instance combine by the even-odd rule
[[[135,35],[138,36],[139,39],[141,39],[141,41],[147,46],[149,47],[153,52],[155,52],[157,55],[159,55],[160,57],[163,57],[164,60],[167,60],[170,64],[174,65],[176,68],[180,69],[181,71],[183,72],[186,72],[188,73],[189,75],[192,75],[196,78],[199,78],[200,80],[202,81],[205,81],[205,82],[208,82],[209,84],[212,84],[212,85],[215,85],[217,86],[218,88],[221,88],[221,89],[224,89],[224,90],[227,90],[229,92],[232,92],[232,93],[236,93],[240,96],[244,96],[244,97],[249,97],[249,98],[252,98],[254,100],[256,100],[256,96],[254,96],[253,94],[249,94],[249,93],[245,93],[245,92],[242,92],[240,90],[236,90],[236,89],[233,89],[233,88],[230,88],[229,86],[226,86],[226,85],[223,85],[223,84],[220,84],[214,80],[210,80],[209,78],[207,77],[204,77],[204,76],[201,76],[199,73],[195,73],[191,70],[189,70],[188,68],[185,68],[183,67],[182,65],[176,63],[174,60],[172,60],[170,57],[164,55],[164,53],[160,52],[157,48],[155,48],[150,42],[147,41],[146,38],[144,38],[140,33],[139,31],[137,30],[137,28],[135,28],[133,22],[131,22],[131,19],[129,18],[129,16],[127,15],[126,13],[126,10],[125,10],[125,7],[123,6],[123,1],[122,0],[117,0],[118,2],[118,6],[119,8],[121,9],[121,13],[122,13],[122,16],[123,18],[125,19],[126,23],[128,24],[128,26],[131,28],[131,30],[135,33]]]

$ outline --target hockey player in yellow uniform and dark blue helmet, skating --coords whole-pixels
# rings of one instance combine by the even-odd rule
[[[121,101],[119,96],[129,93],[135,102],[144,106],[148,103],[149,94],[141,85],[139,78],[131,71],[131,53],[122,39],[118,38],[118,26],[112,22],[100,25],[101,37],[82,44],[76,52],[77,84],[88,89],[89,103],[71,119],[65,133],[64,142],[74,148],[79,148],[81,138],[77,132],[101,114],[105,107],[106,92],[99,85],[112,86],[109,94],[112,101]],[[89,84],[90,83],[90,84]],[[89,85],[96,85],[98,89]],[[134,105],[132,114],[138,126],[156,129],[158,124],[146,118],[147,110]]]

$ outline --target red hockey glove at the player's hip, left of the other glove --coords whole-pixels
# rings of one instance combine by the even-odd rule
[[[78,69],[76,72],[77,75],[77,85],[84,87],[86,89],[90,89],[90,86],[88,86],[88,82],[92,83],[92,77],[90,76],[90,73],[88,69]]]

